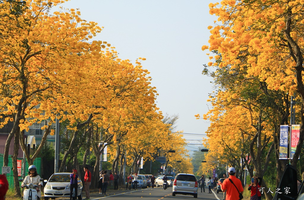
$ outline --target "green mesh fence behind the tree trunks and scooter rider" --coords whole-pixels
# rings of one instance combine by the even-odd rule
[[[23,158],[18,158],[17,160],[22,160],[22,164],[21,164],[21,176],[18,177],[22,178],[22,167],[23,167]],[[34,165],[37,167],[37,173],[41,176],[41,158],[36,158],[34,160]],[[2,170],[2,166],[3,166],[3,154],[0,153],[0,167]],[[9,189],[13,189],[14,188],[14,178],[13,178],[13,171],[12,171],[12,157],[11,155],[9,155],[9,163],[8,166],[11,167],[11,173],[10,174],[6,174],[6,178],[9,181]],[[27,160],[25,159],[25,176],[27,176],[28,174],[28,168],[29,168],[29,164],[27,162]],[[21,183],[20,183],[21,186]]]

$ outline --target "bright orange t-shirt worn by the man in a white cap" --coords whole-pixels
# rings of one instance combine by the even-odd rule
[[[237,188],[234,187],[234,185],[229,181],[229,179],[231,179],[231,181],[233,181],[233,183],[235,184],[235,186],[237,186]],[[231,176],[231,175],[229,176],[229,178],[226,178],[223,181],[221,189],[227,190],[226,191],[226,200],[239,200],[240,194],[237,192],[237,189],[239,190],[239,192],[244,191],[240,179],[238,179],[235,176]]]

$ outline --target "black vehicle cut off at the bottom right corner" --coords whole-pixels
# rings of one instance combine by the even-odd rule
[[[297,171],[298,170],[290,164],[285,167],[272,200],[304,200],[304,181],[301,183],[298,190]],[[286,190],[288,191],[286,192]]]

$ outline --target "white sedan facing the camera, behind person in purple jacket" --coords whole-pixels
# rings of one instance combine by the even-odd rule
[[[44,199],[55,198],[70,198],[70,174],[71,173],[55,173],[49,180],[44,180],[46,183],[44,186]],[[78,178],[77,196],[78,200],[82,199],[82,182]],[[73,191],[73,196],[75,191]]]

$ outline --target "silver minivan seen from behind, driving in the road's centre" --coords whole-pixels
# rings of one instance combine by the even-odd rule
[[[177,174],[173,182],[172,196],[181,194],[197,198],[197,189],[198,183],[193,174]]]

